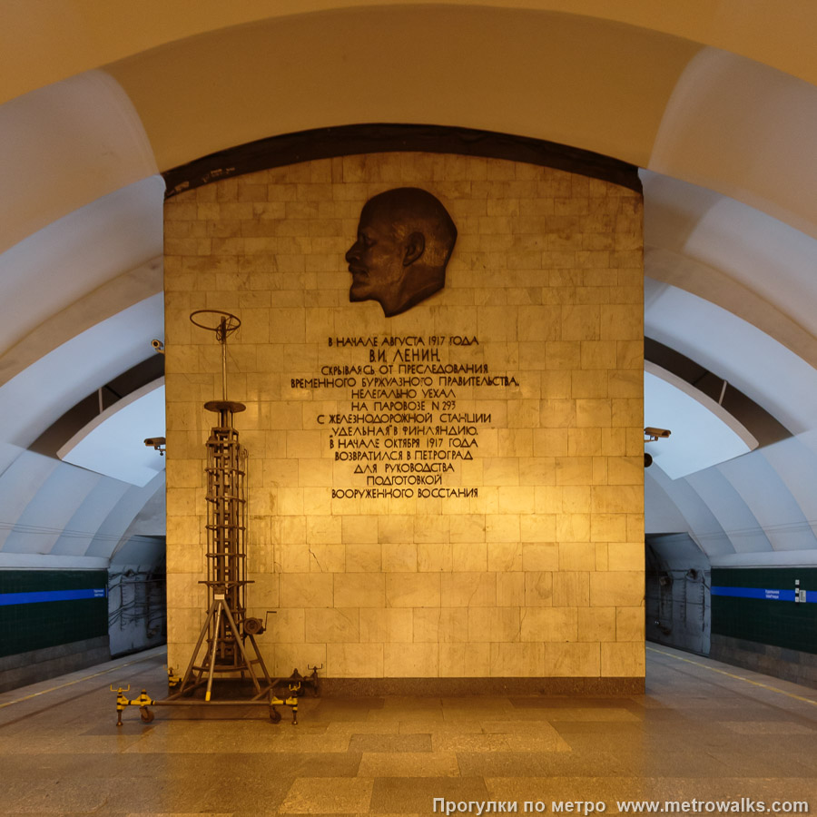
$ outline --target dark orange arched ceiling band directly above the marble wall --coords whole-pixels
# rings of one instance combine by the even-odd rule
[[[576,15],[393,5],[223,29],[105,70],[133,100],[162,170],[352,123],[516,133],[644,164],[698,48]]]

